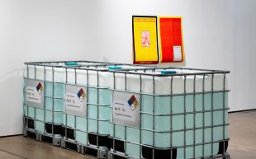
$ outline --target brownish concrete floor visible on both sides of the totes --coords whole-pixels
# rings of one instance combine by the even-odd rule
[[[232,159],[256,159],[256,111],[232,113],[230,152]],[[0,138],[1,159],[92,159],[60,147],[36,142],[22,136]]]

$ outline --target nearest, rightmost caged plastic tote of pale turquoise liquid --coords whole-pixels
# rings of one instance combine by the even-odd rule
[[[162,159],[164,152],[172,152],[183,159],[220,153],[228,140],[229,72],[157,68],[112,73],[112,155]]]

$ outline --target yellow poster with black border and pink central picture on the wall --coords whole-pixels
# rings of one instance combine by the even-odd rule
[[[132,16],[134,63],[159,63],[157,16]]]

